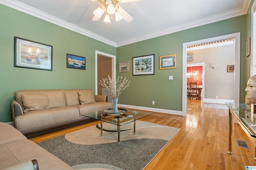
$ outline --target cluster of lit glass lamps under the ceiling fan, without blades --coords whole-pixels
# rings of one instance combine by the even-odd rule
[[[104,22],[110,23],[110,15],[115,14],[116,16],[116,21],[120,21],[123,19],[121,14],[118,12],[120,6],[118,6],[118,2],[122,2],[122,0],[95,0],[95,1],[100,1],[102,6],[97,8],[93,14],[97,18],[101,18],[101,16],[106,13]]]

